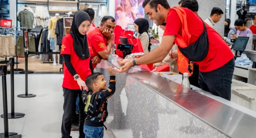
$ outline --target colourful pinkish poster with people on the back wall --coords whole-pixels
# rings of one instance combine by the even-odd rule
[[[144,0],[115,0],[116,25],[127,30],[128,24],[133,24],[138,18],[144,18],[143,1]]]

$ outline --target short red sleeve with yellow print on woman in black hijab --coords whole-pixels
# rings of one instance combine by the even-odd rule
[[[61,56],[63,56],[63,54],[71,54],[71,47],[72,47],[72,37],[70,34],[66,35],[63,37],[62,39],[62,45],[61,45]]]

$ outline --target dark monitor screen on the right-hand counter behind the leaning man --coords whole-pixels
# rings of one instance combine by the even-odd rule
[[[237,37],[232,49],[238,50],[238,51],[244,51],[248,40],[249,40],[249,37]]]

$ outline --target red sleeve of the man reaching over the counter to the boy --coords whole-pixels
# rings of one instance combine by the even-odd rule
[[[178,13],[174,9],[170,9],[167,19],[166,19],[166,26],[165,26],[165,32],[163,33],[163,36],[169,36],[169,35],[178,35],[178,32],[181,29],[181,20],[178,16]]]

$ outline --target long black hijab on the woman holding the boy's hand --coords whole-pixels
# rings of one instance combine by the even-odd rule
[[[70,35],[74,40],[74,50],[79,58],[85,60],[90,57],[87,36],[79,33],[78,28],[83,23],[83,21],[90,21],[90,16],[84,11],[77,11],[74,14]]]

